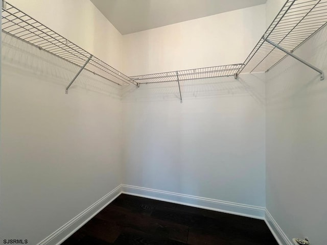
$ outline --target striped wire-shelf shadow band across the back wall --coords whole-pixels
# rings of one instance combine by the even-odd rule
[[[206,78],[180,81],[182,99],[204,99],[217,96],[250,95],[258,104],[265,106],[265,74],[243,74],[238,79],[231,77]],[[179,89],[176,82],[141,84],[139,88],[125,87],[122,90],[122,100],[165,101],[178,102]]]

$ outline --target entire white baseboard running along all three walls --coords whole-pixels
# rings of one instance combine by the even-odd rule
[[[169,191],[154,190],[144,187],[137,187],[131,185],[119,185],[103,198],[101,198],[96,203],[92,204],[90,207],[85,209],[79,215],[69,220],[65,225],[60,227],[57,231],[52,233],[50,236],[46,237],[40,241],[37,245],[59,245],[79,228],[81,228],[88,220],[99,213],[103,208],[105,208],[109,203],[116,199],[121,193],[136,195],[138,197],[150,198],[154,200],[166,201],[171,203],[182,204],[191,207],[203,208],[208,210],[214,210],[219,212],[225,212],[230,214],[236,214],[246,217],[265,219],[265,208],[258,206],[251,206],[240,203],[232,203],[226,201],[220,201],[209,198],[196,197],[194,195],[186,195]],[[269,219],[267,217],[270,217]],[[270,220],[268,222],[268,220]],[[279,231],[282,231],[274,219],[271,217],[269,212],[266,210],[266,223],[271,229],[272,233],[276,237]],[[274,229],[272,229],[271,225]],[[283,232],[281,234],[284,234]],[[285,236],[285,234],[284,234]],[[282,236],[283,237],[283,236]],[[286,237],[286,236],[285,236]],[[292,245],[292,243],[281,243],[276,237],[280,245]],[[283,238],[284,239],[284,238]],[[286,237],[287,239],[287,237]]]

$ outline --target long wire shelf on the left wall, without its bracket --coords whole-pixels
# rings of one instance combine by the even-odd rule
[[[91,57],[83,48],[6,2],[2,5],[2,31],[78,66],[83,66]],[[122,72],[94,56],[85,69],[118,85],[137,85]]]

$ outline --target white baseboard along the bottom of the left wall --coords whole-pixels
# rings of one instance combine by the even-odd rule
[[[99,213],[103,208],[105,208],[109,203],[111,203],[116,197],[122,193],[121,185],[114,188],[108,194],[106,194],[99,201],[95,202],[79,215],[69,220],[65,225],[60,227],[57,231],[52,233],[50,236],[46,237],[40,241],[37,245],[58,245],[71,236],[75,231],[82,227],[88,220]]]

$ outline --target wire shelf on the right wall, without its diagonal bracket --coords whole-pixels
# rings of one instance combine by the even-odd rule
[[[327,0],[287,0],[263,38],[293,52],[327,23]],[[245,60],[241,72],[268,71],[287,55],[260,39]]]

